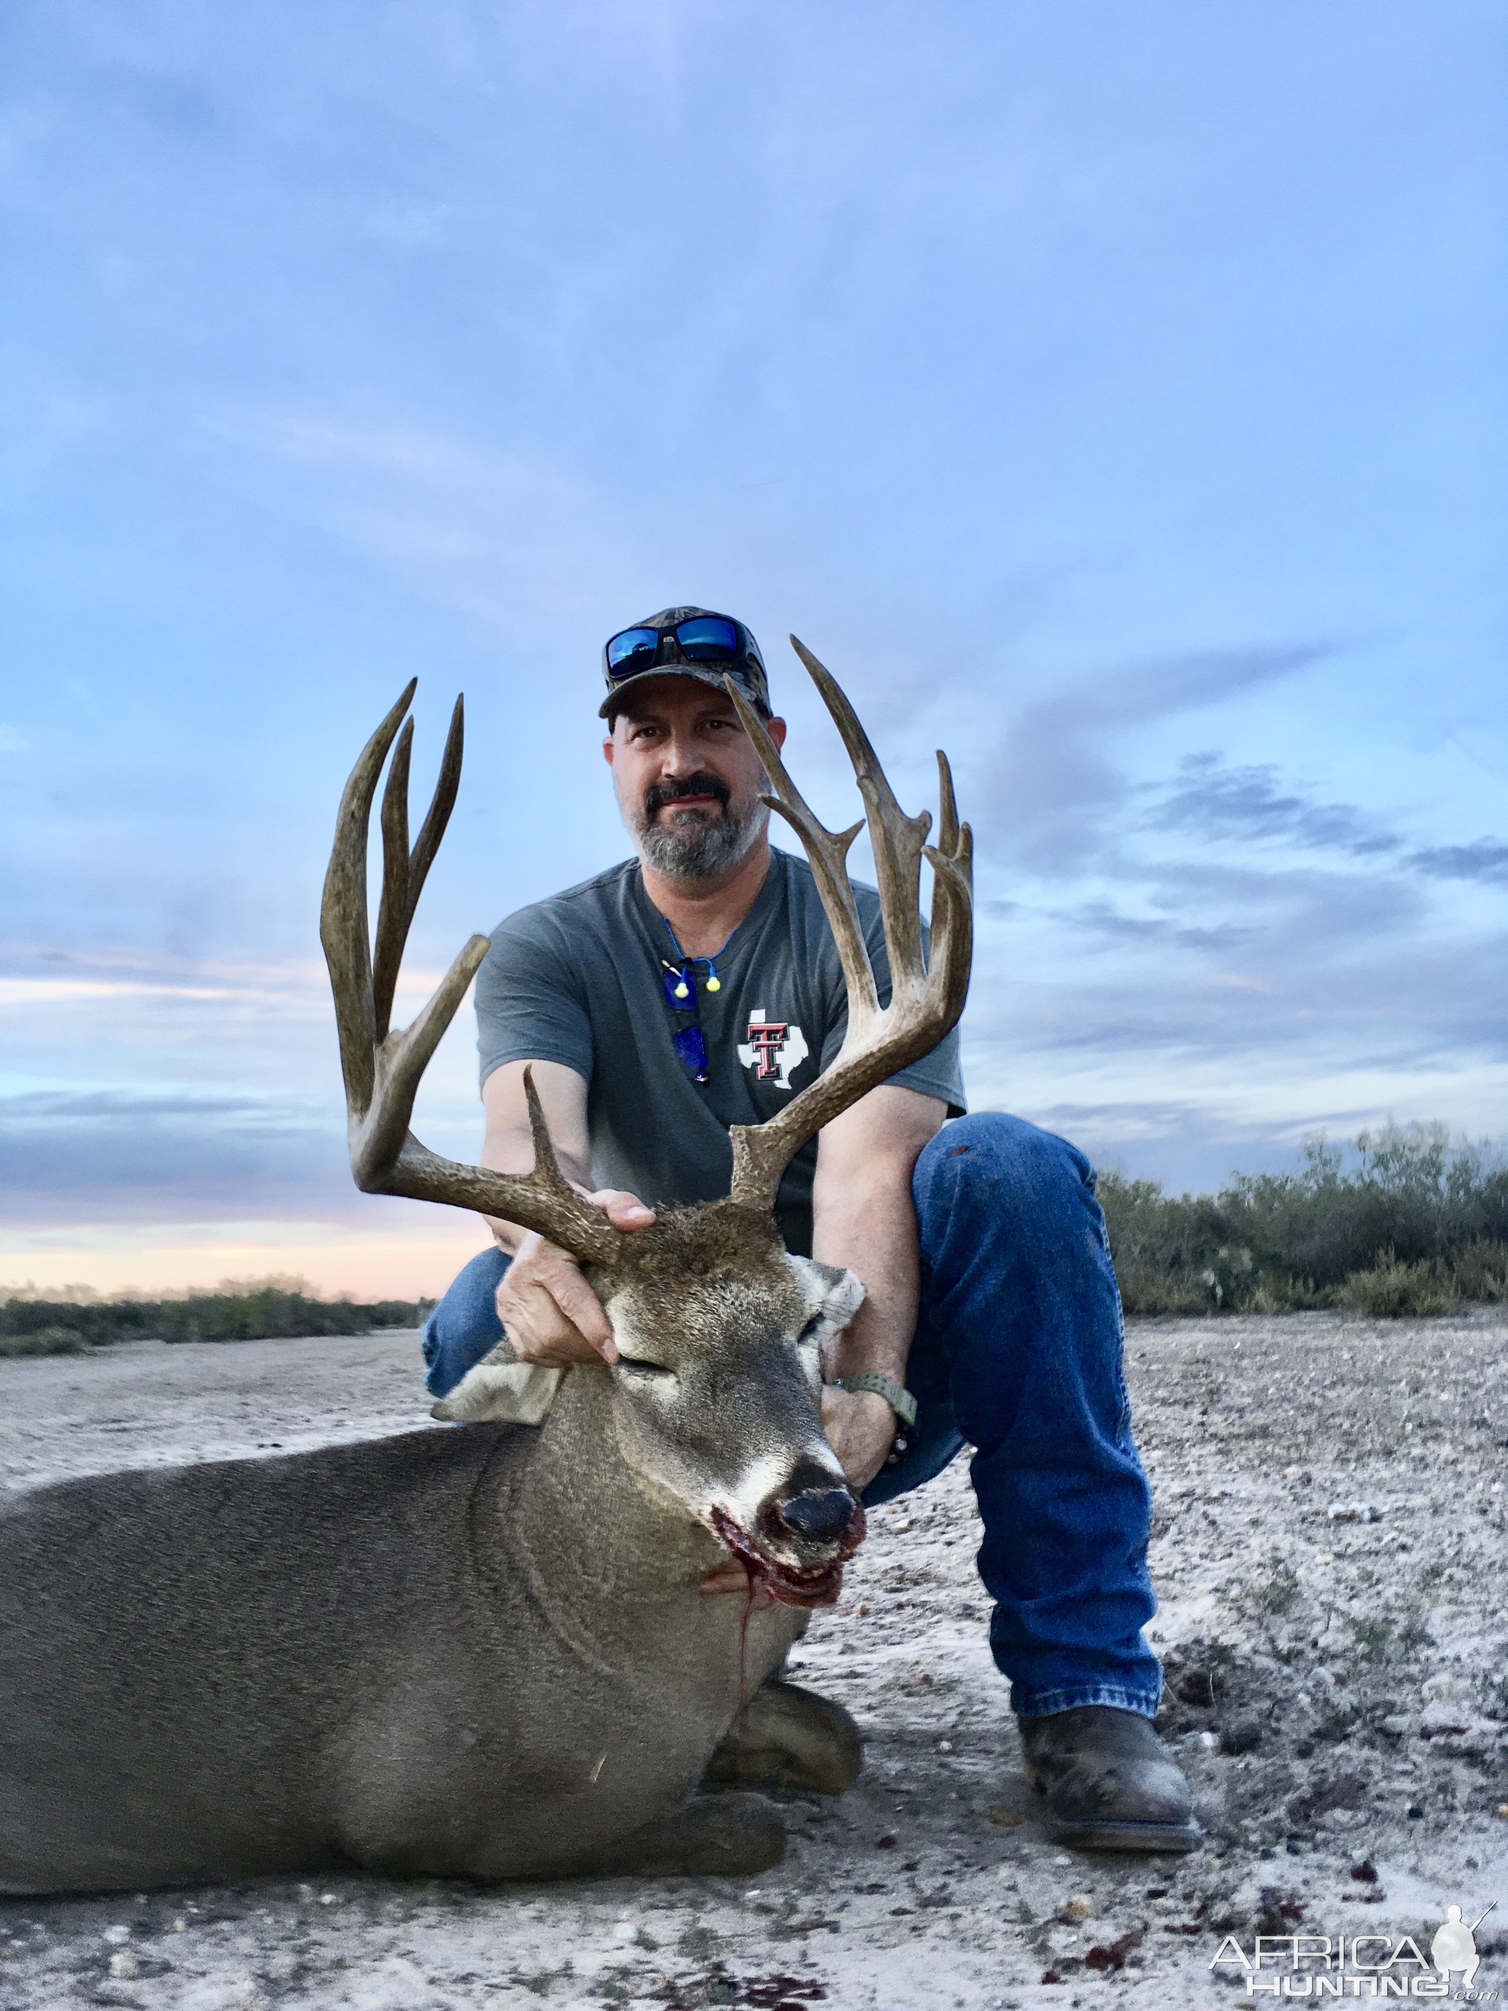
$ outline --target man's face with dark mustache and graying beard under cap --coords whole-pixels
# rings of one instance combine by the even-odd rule
[[[768,720],[780,746],[784,720]],[[668,879],[714,879],[768,822],[764,768],[732,700],[694,678],[647,678],[625,698],[603,754],[639,857]]]

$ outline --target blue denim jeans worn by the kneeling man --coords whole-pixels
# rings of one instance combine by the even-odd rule
[[[945,1124],[911,1180],[921,1309],[907,1365],[917,1430],[865,1506],[975,1446],[995,1601],[989,1645],[1011,1709],[1108,1703],[1152,1717],[1162,1671],[1142,1641],[1152,1498],[1130,1428],[1122,1319],[1094,1170],[1064,1138],[983,1110]],[[483,1251],[424,1323],[434,1396],[497,1345],[507,1259]]]

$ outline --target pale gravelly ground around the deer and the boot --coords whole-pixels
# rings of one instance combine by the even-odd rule
[[[859,1717],[867,1768],[838,1802],[788,1804],[786,1860],[754,1886],[350,1876],[0,1900],[0,2007],[1005,2011],[1130,1993],[1178,2011],[1251,2001],[1239,1967],[1210,1971],[1227,1935],[1251,1951],[1259,1931],[1407,1933],[1428,1955],[1450,1902],[1474,1921],[1492,1900],[1476,1989],[1508,1991],[1506,1339],[1496,1311],[1130,1327],[1162,1729],[1206,1828],[1190,1858],[1072,1856],[1033,1826],[957,1462],[873,1516],[842,1603],[796,1651],[798,1677]],[[410,1430],[414,1361],[412,1333],[0,1361],[0,1472],[32,1486]]]

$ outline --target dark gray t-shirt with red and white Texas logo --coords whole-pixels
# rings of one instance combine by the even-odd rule
[[[855,885],[881,1003],[891,995],[879,895]],[[505,1062],[563,1062],[587,1082],[591,1176],[643,1201],[718,1201],[732,1180],[730,1124],[762,1124],[826,1068],[842,1046],[849,999],[812,869],[772,853],[754,907],[718,955],[718,991],[696,965],[708,1080],[672,1046],[686,1026],[664,991],[662,959],[678,961],[637,859],[519,909],[493,931],[477,973],[483,1082]],[[959,1116],[957,1028],[891,1078],[937,1096]],[[786,1168],[776,1219],[786,1247],[810,1255],[808,1140]]]

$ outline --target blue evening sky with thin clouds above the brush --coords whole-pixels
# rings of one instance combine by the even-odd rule
[[[623,857],[607,633],[977,841],[975,1108],[1208,1186],[1508,1136],[1498,0],[12,0],[0,1281],[442,1289],[318,893],[418,676],[400,1008]],[[462,1008],[416,1130],[481,1142]]]

